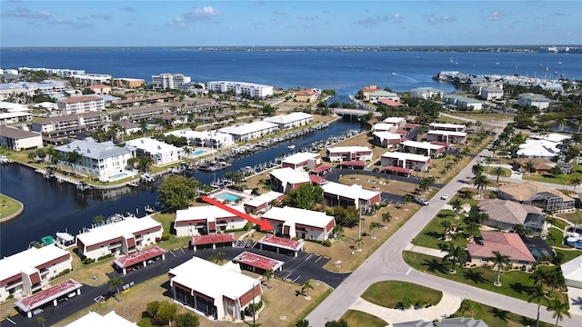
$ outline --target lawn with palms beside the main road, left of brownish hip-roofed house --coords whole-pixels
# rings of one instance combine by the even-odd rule
[[[458,219],[455,219],[455,212],[451,210],[441,210],[433,220],[430,221],[422,230],[418,233],[412,243],[418,246],[425,246],[432,249],[443,250],[447,247],[447,242],[443,240],[443,233],[445,232],[441,222],[448,219],[451,223],[455,223],[457,228],[464,229],[466,224],[463,222],[465,217],[463,214],[458,214]],[[464,248],[467,246],[467,236],[458,240],[458,246]]]

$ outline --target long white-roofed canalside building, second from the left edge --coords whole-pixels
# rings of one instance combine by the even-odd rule
[[[130,254],[159,242],[164,229],[151,216],[127,217],[105,223],[76,235],[76,247],[82,258],[98,259],[107,254]]]

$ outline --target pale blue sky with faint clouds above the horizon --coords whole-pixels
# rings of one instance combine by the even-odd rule
[[[0,0],[2,47],[263,45],[582,45],[582,0]]]

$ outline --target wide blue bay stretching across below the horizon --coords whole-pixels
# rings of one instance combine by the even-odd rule
[[[336,90],[339,101],[346,101],[347,94],[356,94],[361,86],[368,84],[395,91],[419,86],[453,91],[451,84],[431,78],[439,71],[448,70],[532,77],[564,74],[569,79],[582,78],[581,54],[188,49],[2,50],[1,54],[3,68],[85,69],[93,74],[143,78],[146,83],[152,82],[153,74],[175,73],[189,75],[197,82],[236,80],[276,88],[330,88]]]

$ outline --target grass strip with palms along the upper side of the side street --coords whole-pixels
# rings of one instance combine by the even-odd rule
[[[497,287],[493,284],[493,282],[497,281],[497,270],[491,268],[467,268],[457,265],[457,273],[448,273],[450,263],[443,263],[440,258],[409,251],[403,253],[403,258],[408,265],[418,271],[447,278],[455,282],[466,283],[467,285],[511,296],[519,300],[527,301],[530,288],[533,286],[533,280],[529,278],[531,275],[529,272],[501,272],[499,279],[501,286]],[[567,294],[562,292],[556,292],[556,294],[561,301],[567,302]]]

